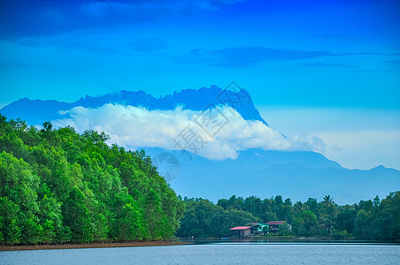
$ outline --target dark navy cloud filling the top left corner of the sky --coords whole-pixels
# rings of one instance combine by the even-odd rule
[[[0,1],[1,38],[15,40],[77,29],[127,26],[218,10],[235,0],[12,0]]]

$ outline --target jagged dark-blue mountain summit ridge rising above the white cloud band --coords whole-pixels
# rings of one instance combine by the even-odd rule
[[[212,105],[227,103],[237,110],[244,119],[259,120],[267,125],[255,108],[247,90],[240,89],[235,92],[217,86],[203,87],[198,90],[186,89],[159,98],[155,98],[142,90],[136,92],[122,90],[119,93],[95,97],[86,95],[76,102],[23,98],[4,106],[0,113],[5,117],[19,117],[27,121],[28,125],[42,125],[45,121],[61,118],[59,111],[71,110],[77,106],[98,108],[107,103],[144,107],[148,110],[173,110],[178,106],[182,106],[183,110],[205,110],[211,108]]]

